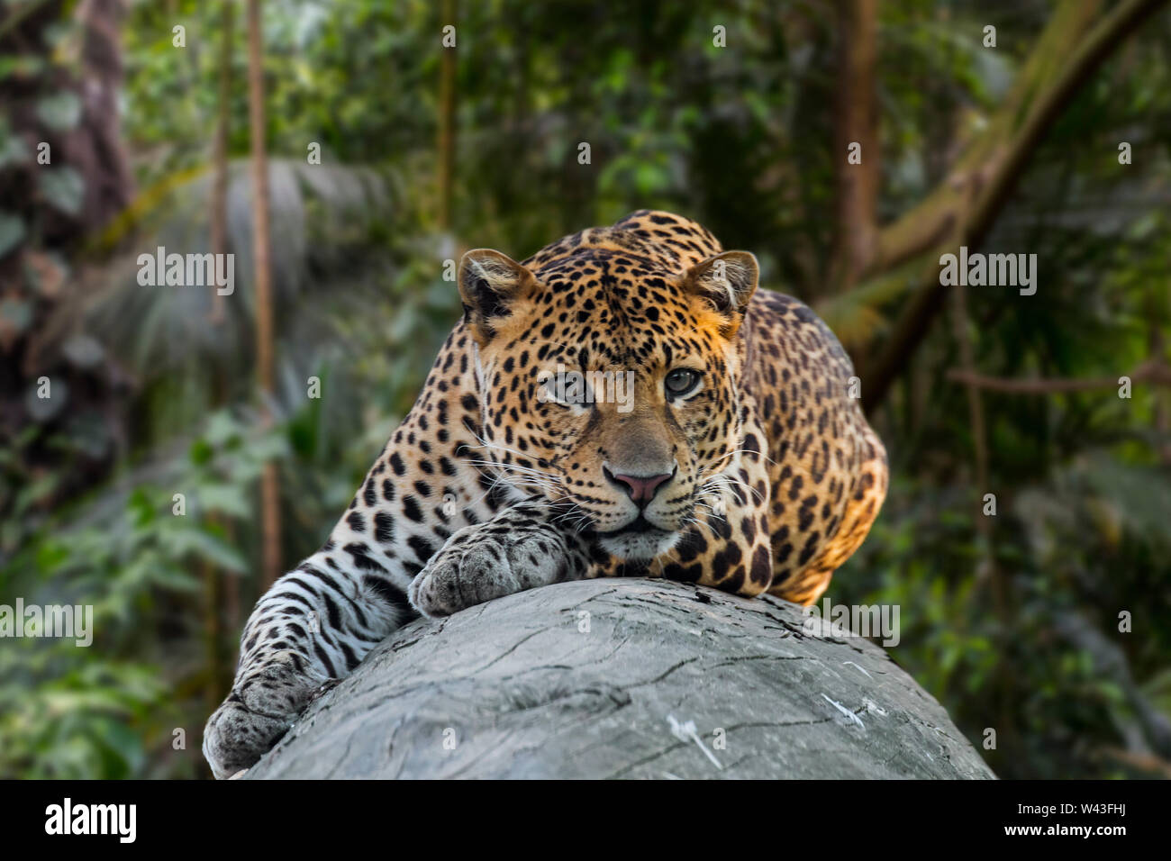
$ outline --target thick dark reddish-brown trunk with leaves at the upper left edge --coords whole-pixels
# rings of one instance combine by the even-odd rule
[[[29,480],[49,473],[61,479],[52,491],[37,493],[41,511],[83,496],[109,474],[125,447],[126,395],[114,382],[119,371],[107,361],[78,367],[61,350],[76,330],[78,303],[89,289],[73,267],[74,257],[87,244],[97,244],[135,197],[118,110],[125,12],[119,0],[0,4],[0,57],[6,66],[0,74],[0,139],[6,150],[7,144],[23,144],[27,156],[0,159],[0,219],[6,233],[16,231],[14,244],[6,242],[0,253],[0,296],[28,312],[0,314],[0,438],[19,439],[33,425],[42,440],[64,438],[61,435],[76,432],[67,428],[73,422],[101,417],[102,429],[90,437],[111,442],[82,463],[69,446],[25,449],[18,465]],[[71,57],[74,47],[55,47],[54,30],[62,27],[73,34],[68,45],[75,47],[80,39],[80,59]],[[44,97],[73,97],[80,109],[60,112],[73,114],[71,119],[61,115],[50,123],[39,110]],[[80,198],[49,193],[49,177],[60,178],[63,171],[81,178]],[[42,415],[27,398],[41,376],[53,380],[52,415]],[[68,395],[60,388],[64,385]],[[11,508],[0,511],[6,515],[12,515]]]

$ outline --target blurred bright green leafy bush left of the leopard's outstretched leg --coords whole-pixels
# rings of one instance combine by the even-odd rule
[[[170,744],[167,725],[198,739],[197,712],[176,696],[201,672],[176,660],[198,633],[185,609],[199,606],[193,572],[246,574],[253,560],[227,529],[254,528],[262,464],[287,455],[281,436],[254,426],[228,412],[208,416],[189,445],[44,521],[0,565],[9,601],[89,608],[94,634],[88,647],[26,638],[0,650],[0,774],[142,775],[148,754]],[[11,460],[11,451],[0,453]],[[28,498],[49,491],[27,490]],[[16,510],[26,505],[18,499]],[[162,648],[174,640],[180,650]],[[192,763],[178,766],[190,773]]]

